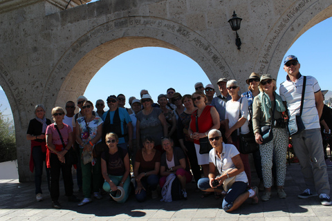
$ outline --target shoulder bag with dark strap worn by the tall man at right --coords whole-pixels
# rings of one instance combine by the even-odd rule
[[[302,97],[301,97],[301,106],[299,108],[299,115],[293,115],[289,117],[288,132],[290,135],[297,135],[301,131],[304,131],[304,129],[306,128],[301,118],[305,90],[306,90],[306,76],[303,76]]]

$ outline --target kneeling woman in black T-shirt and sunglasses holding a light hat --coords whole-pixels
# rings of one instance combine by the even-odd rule
[[[102,177],[105,179],[102,188],[111,193],[121,186],[124,189],[124,198],[118,202],[126,202],[130,188],[128,151],[118,148],[119,138],[115,133],[107,133],[105,140],[109,151],[102,153]]]

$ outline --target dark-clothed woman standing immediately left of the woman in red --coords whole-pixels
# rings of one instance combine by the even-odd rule
[[[190,161],[190,169],[192,169],[192,175],[196,183],[201,179],[201,171],[199,163],[197,162],[196,149],[194,145],[194,139],[190,138],[188,130],[190,127],[190,120],[192,119],[192,113],[197,110],[192,102],[192,95],[183,95],[181,101],[185,106],[185,111],[178,116],[178,142],[185,154],[187,154]]]

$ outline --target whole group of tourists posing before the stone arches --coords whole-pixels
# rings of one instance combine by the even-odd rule
[[[79,113],[75,114],[71,101],[66,103],[66,113],[61,107],[52,109],[53,124],[46,119],[44,106],[35,106],[27,139],[31,141],[36,200],[43,200],[43,162],[55,209],[61,208],[60,171],[68,201],[78,206],[92,202],[92,197],[101,199],[105,192],[123,203],[131,189],[138,202],[160,194],[170,202],[187,198],[186,184],[192,180],[204,191],[202,198],[211,193],[222,197],[227,212],[248,198],[257,204],[259,191],[264,191],[262,201],[269,200],[273,180],[279,198],[286,198],[286,151],[291,134],[307,186],[298,197],[319,195],[323,205],[330,205],[329,160],[324,157],[320,129],[322,124],[324,133],[330,130],[321,119],[323,95],[317,80],[301,75],[299,67],[297,57],[284,59],[287,75],[279,94],[271,75],[252,73],[246,80],[248,91],[242,95],[238,81],[221,78],[216,82],[218,96],[212,84],[204,87],[199,82],[192,95],[169,88],[156,104],[147,90],[141,90],[140,99],[129,98],[131,108],[124,108],[124,95],[110,95],[106,112],[102,99],[95,102],[97,111],[93,111],[93,103],[80,96]],[[251,182],[249,154],[241,151],[241,137],[248,134],[257,146],[249,154],[260,179],[258,187]],[[82,200],[73,195],[72,165]],[[171,191],[174,183],[178,183],[177,196]]]

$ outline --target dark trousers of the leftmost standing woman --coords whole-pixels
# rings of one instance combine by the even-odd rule
[[[33,164],[35,164],[35,193],[42,192],[42,175],[43,175],[43,164],[45,162],[46,176],[48,191],[50,191],[50,171],[46,167],[46,153],[42,152],[41,146],[33,147]]]

